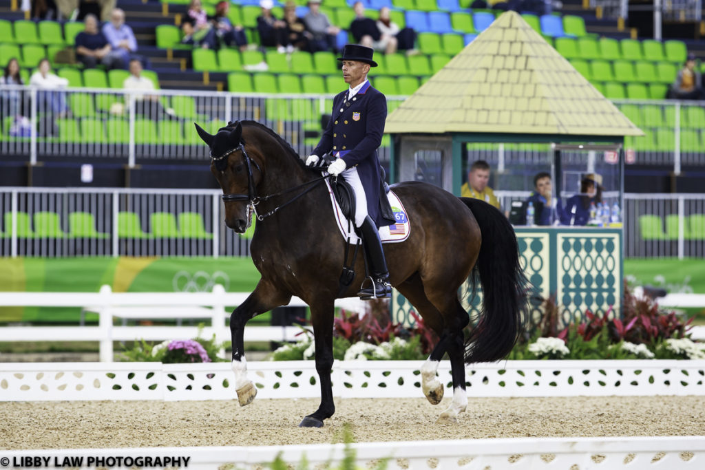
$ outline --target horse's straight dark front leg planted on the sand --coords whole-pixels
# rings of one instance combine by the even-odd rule
[[[336,406],[333,404],[333,387],[331,369],[333,368],[333,301],[311,305],[311,323],[316,351],[316,371],[321,382],[321,405],[316,412],[306,416],[299,427],[320,428],[323,420],[333,416]]]

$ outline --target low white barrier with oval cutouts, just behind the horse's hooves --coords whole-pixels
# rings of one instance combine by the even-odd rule
[[[333,395],[422,397],[422,361],[335,361]],[[259,398],[320,396],[314,361],[253,361]],[[439,380],[452,390],[450,363]],[[705,395],[705,360],[504,361],[466,367],[469,397],[609,397]],[[233,400],[227,362],[0,364],[0,401]]]

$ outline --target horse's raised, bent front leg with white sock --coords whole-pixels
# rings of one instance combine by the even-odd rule
[[[230,333],[233,341],[233,372],[235,373],[235,391],[238,393],[238,402],[244,407],[252,403],[257,395],[255,384],[247,378],[247,361],[245,361],[245,323],[265,311],[286,305],[291,299],[290,295],[280,292],[271,283],[260,279],[255,290],[252,291],[245,302],[233,310],[230,316]]]

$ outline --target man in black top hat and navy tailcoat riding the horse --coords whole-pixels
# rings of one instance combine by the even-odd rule
[[[369,260],[372,284],[357,292],[362,299],[391,297],[389,272],[379,227],[392,225],[379,206],[380,166],[377,148],[382,141],[387,102],[384,94],[369,85],[367,73],[376,67],[373,49],[348,44],[343,48],[343,80],[350,87],[333,99],[333,113],[321,141],[306,159],[307,166],[317,166],[319,155],[333,152],[336,160],[328,173],[342,175],[355,192],[355,226],[362,233],[364,251]],[[382,197],[386,197],[384,193]]]

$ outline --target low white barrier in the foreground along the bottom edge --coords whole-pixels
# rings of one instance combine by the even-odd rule
[[[702,469],[705,438],[702,436],[626,438],[505,438],[476,440],[433,440],[386,443],[353,443],[356,468],[374,468],[381,459],[388,469],[427,470],[617,470]],[[50,468],[61,467],[64,459],[78,468],[113,466],[118,457],[124,467],[140,466],[135,459],[159,457],[164,466],[192,470],[261,469],[281,453],[289,468],[306,459],[309,468],[338,465],[345,457],[343,444],[283,445],[262,447],[144,447],[139,449],[5,450],[2,457],[10,466],[21,459],[39,457]],[[165,457],[170,460],[164,462]],[[102,459],[102,460],[99,460]],[[108,460],[111,459],[111,460]],[[129,459],[129,460],[126,460]],[[188,460],[187,460],[188,459]],[[142,460],[144,462],[144,460]]]

